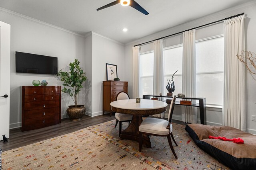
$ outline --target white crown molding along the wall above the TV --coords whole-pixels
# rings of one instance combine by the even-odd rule
[[[50,23],[46,23],[46,22],[44,22],[44,21],[36,20],[36,19],[31,18],[31,17],[28,17],[28,16],[24,16],[24,15],[22,15],[22,14],[19,14],[19,13],[17,13],[17,12],[13,12],[13,11],[7,10],[7,9],[5,9],[5,8],[1,8],[1,7],[0,7],[0,12],[3,12],[3,13],[5,13],[5,14],[10,14],[10,15],[12,15],[12,16],[16,16],[16,17],[19,17],[19,18],[22,18],[22,19],[25,19],[25,20],[29,20],[29,21],[35,22],[35,23],[40,23],[41,25],[46,25],[46,26],[48,26],[48,27],[52,27],[52,28],[55,28],[55,29],[59,29],[59,30],[61,30],[61,31],[64,31],[64,32],[67,32],[67,33],[71,33],[71,34],[74,34],[74,35],[78,35],[78,36],[84,38],[84,35],[82,35],[82,34],[79,34],[79,33],[73,32],[73,31],[70,31],[70,30],[68,30],[68,29],[64,29],[64,28],[58,27],[58,26],[56,26],[56,25],[52,25],[52,24],[50,24]]]

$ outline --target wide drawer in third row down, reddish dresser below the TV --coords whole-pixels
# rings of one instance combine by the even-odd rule
[[[24,110],[46,109],[60,106],[59,100],[30,102],[24,104]]]

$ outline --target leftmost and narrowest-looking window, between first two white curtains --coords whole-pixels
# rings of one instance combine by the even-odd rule
[[[140,97],[153,94],[154,53],[140,53]]]

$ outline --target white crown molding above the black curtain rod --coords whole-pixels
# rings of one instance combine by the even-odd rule
[[[140,43],[143,43],[143,42],[146,42],[146,41],[150,41],[152,39],[157,39],[159,37],[164,37],[164,36],[166,36],[168,34],[175,33],[172,30],[175,30],[175,29],[177,29],[179,27],[185,27],[187,29],[190,29],[191,27],[196,27],[196,26],[202,25],[200,23],[204,23],[205,24],[205,23],[208,23],[208,22],[210,22],[212,20],[223,19],[223,18],[226,18],[227,16],[229,16],[230,14],[231,15],[232,14],[236,15],[236,14],[241,13],[241,12],[238,12],[238,11],[246,10],[247,8],[251,8],[252,6],[256,6],[256,1],[250,1],[250,2],[247,2],[247,3],[241,4],[241,5],[238,5],[238,6],[227,8],[225,10],[222,10],[222,11],[219,11],[219,12],[215,12],[215,13],[209,14],[207,16],[203,16],[203,17],[197,18],[195,20],[188,21],[186,23],[182,23],[182,24],[176,25],[174,27],[170,27],[170,28],[164,29],[162,31],[158,31],[156,33],[147,35],[145,37],[142,37],[142,38],[137,39],[135,41],[132,41],[130,43],[126,43],[125,46],[128,46],[128,45],[132,45],[133,46],[133,45],[137,45],[137,44],[140,44]],[[186,30],[186,29],[184,29],[184,30]],[[182,31],[182,30],[180,30],[180,31]]]

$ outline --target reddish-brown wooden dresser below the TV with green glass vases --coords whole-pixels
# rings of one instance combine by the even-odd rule
[[[20,86],[21,130],[60,123],[61,86]]]

